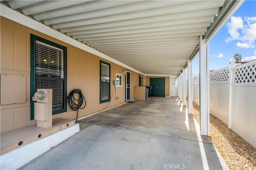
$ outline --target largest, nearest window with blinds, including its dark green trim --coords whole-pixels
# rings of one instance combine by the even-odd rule
[[[32,34],[30,43],[31,99],[36,89],[52,89],[52,114],[67,111],[67,48]],[[34,102],[30,103],[31,119],[34,119]]]

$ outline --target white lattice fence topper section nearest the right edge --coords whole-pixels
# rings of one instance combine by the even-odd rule
[[[256,64],[234,70],[234,83],[256,82]]]

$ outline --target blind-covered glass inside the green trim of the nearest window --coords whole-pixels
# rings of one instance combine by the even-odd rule
[[[64,108],[64,57],[63,50],[36,41],[36,89],[52,89],[52,111]]]

